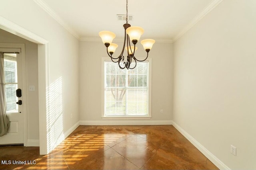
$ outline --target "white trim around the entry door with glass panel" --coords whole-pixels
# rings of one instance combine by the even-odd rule
[[[23,129],[23,143],[24,147],[28,145],[28,105],[27,105],[27,68],[26,68],[26,51],[25,51],[25,44],[22,43],[0,43],[0,48],[8,48],[8,49],[20,49],[20,55],[22,58],[22,96],[23,96],[23,122],[24,122],[24,129]],[[8,52],[12,52],[12,51]],[[15,52],[15,51],[14,51]]]

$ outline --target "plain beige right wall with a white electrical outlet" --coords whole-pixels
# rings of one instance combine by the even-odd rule
[[[173,120],[231,169],[256,169],[255,9],[224,0],[174,43]]]

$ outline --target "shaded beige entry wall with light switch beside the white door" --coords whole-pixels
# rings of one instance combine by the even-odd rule
[[[0,43],[24,43],[26,50],[26,84],[27,84],[27,115],[28,139],[39,140],[38,119],[38,52],[37,44],[0,29]],[[35,91],[28,91],[29,85],[35,86]]]

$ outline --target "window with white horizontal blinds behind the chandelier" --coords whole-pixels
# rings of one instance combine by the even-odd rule
[[[149,61],[128,70],[104,61],[104,117],[150,116],[149,68]]]

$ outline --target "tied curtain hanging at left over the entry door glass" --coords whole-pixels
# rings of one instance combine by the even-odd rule
[[[6,116],[4,82],[4,53],[0,52],[0,137],[6,135],[10,127],[10,121]]]

